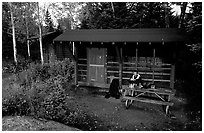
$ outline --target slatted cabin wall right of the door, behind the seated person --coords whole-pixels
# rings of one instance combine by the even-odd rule
[[[129,78],[138,70],[145,82],[154,82],[158,87],[169,87],[171,78],[171,49],[161,44],[155,45],[123,45],[123,84],[128,84]],[[155,48],[155,58],[153,49]],[[137,55],[136,55],[137,49]],[[116,60],[114,49],[108,49],[107,78],[119,78],[119,63]],[[109,52],[111,51],[111,52]],[[145,51],[145,52],[144,52]],[[162,52],[160,52],[162,51]],[[163,51],[170,51],[165,55]],[[136,59],[137,56],[137,59]]]

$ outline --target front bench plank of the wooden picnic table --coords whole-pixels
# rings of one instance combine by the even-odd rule
[[[151,100],[151,99],[146,99],[146,98],[135,98],[135,97],[130,97],[130,96],[124,96],[123,98],[128,99],[128,100],[138,101],[138,102],[144,102],[144,103],[152,103],[152,104],[167,105],[167,106],[174,105],[174,103],[172,102],[164,102],[164,101]]]

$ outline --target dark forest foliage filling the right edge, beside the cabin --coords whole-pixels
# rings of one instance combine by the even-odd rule
[[[178,57],[177,74],[184,81],[181,88],[187,98],[186,111],[190,130],[201,130],[202,123],[202,3],[192,2],[185,12],[183,28],[188,35],[187,47]],[[177,77],[178,78],[178,77]]]

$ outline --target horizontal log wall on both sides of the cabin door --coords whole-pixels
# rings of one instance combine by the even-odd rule
[[[127,52],[129,49],[124,49],[122,57],[122,84],[128,84],[129,78],[132,76],[135,70],[138,70],[143,80],[147,83],[155,83],[156,87],[170,88],[173,86],[172,67],[173,65],[168,63],[166,59],[161,58],[159,52],[161,50],[152,48],[149,53],[152,54],[138,54],[142,53],[140,47],[135,48],[135,53]],[[130,48],[133,50],[133,48]],[[80,55],[86,51],[85,48],[81,49]],[[126,51],[126,52],[125,52]],[[119,79],[119,60],[114,47],[108,47],[107,49],[107,62],[106,62],[106,78],[107,82],[104,84],[110,84],[112,76]],[[155,54],[156,53],[156,54]],[[143,57],[144,56],[144,57]],[[87,82],[87,59],[86,54],[83,54],[78,59],[78,80],[81,82]],[[173,88],[173,87],[171,87]]]

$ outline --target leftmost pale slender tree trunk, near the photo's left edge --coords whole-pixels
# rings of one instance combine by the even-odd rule
[[[15,25],[13,21],[13,6],[11,2],[9,2],[9,5],[10,5],[10,12],[11,12],[11,25],[12,25],[12,36],[13,36],[13,55],[14,55],[14,62],[17,65],[17,57],[16,57],[17,49],[16,49],[16,37],[15,37]]]

